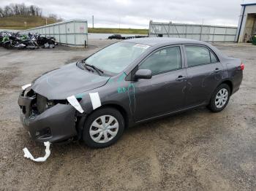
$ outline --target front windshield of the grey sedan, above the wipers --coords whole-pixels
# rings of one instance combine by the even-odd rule
[[[104,71],[120,73],[135,61],[149,46],[131,42],[117,42],[86,59],[86,63]]]

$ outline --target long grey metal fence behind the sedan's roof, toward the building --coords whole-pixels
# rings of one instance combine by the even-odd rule
[[[196,39],[205,42],[235,42],[236,30],[237,28],[232,26],[206,26],[150,21],[148,35]]]

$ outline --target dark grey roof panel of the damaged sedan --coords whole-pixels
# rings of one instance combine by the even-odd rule
[[[192,39],[181,39],[181,38],[168,38],[168,37],[145,37],[127,39],[124,42],[133,42],[138,44],[146,44],[149,46],[166,45],[166,44],[208,44],[206,42],[192,40]]]

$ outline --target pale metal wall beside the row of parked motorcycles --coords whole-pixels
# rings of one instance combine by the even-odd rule
[[[88,25],[86,20],[68,20],[47,26],[22,31],[23,34],[39,33],[53,36],[59,44],[81,47],[88,44]]]

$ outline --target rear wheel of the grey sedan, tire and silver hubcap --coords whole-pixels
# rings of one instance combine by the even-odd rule
[[[217,96],[219,98],[217,98]],[[211,102],[208,108],[211,112],[221,112],[230,100],[230,87],[227,84],[219,85],[211,96]]]

